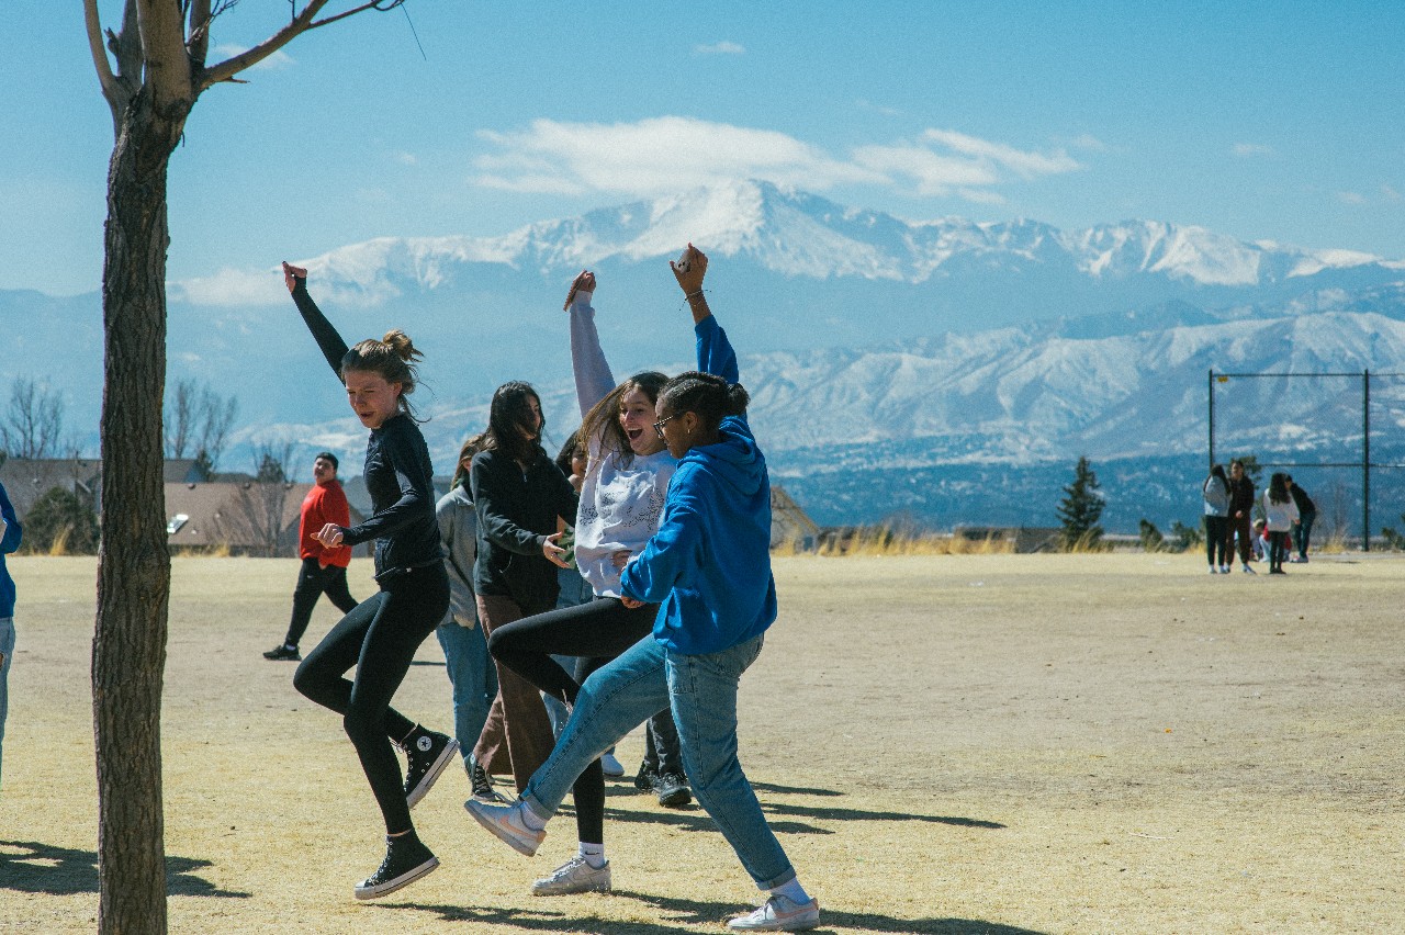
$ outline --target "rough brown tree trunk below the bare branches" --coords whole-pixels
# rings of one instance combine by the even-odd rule
[[[162,487],[166,168],[185,111],[132,101],[108,167],[103,548],[93,639],[100,932],[166,931],[160,709],[170,557]]]

